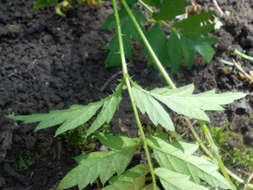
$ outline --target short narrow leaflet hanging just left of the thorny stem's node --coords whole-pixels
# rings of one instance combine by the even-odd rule
[[[93,121],[93,123],[87,130],[87,136],[99,129],[103,124],[110,123],[115,111],[119,106],[121,99],[121,93],[114,93],[106,99],[101,112],[97,115],[97,118],[95,119],[95,121]]]

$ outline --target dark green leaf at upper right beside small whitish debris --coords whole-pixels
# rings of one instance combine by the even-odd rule
[[[213,24],[203,24],[208,21],[213,12],[205,12],[198,15],[190,15],[187,19],[181,20],[172,27],[180,29],[181,34],[206,34],[214,29]]]

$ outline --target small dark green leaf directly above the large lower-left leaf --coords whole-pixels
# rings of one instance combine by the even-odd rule
[[[139,138],[128,138],[124,135],[110,135],[105,133],[97,134],[97,138],[101,144],[110,148],[111,150],[120,150],[124,147],[134,146],[140,143]]]

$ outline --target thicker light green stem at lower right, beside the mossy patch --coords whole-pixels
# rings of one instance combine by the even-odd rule
[[[227,173],[227,171],[226,171],[226,169],[225,169],[224,163],[223,163],[223,161],[222,161],[222,159],[221,159],[221,156],[220,156],[220,154],[219,154],[219,150],[218,150],[217,146],[215,145],[215,143],[214,143],[214,141],[213,141],[212,135],[211,135],[211,133],[210,133],[208,127],[207,127],[206,124],[205,124],[204,122],[202,122],[202,121],[199,122],[199,124],[200,124],[201,128],[203,129],[203,132],[204,132],[204,134],[205,134],[205,136],[206,136],[206,139],[207,139],[207,141],[208,141],[208,143],[209,143],[209,146],[210,146],[211,149],[213,150],[212,152],[213,152],[214,156],[216,157],[216,160],[217,160],[217,162],[218,162],[218,166],[219,166],[221,172],[223,173],[225,179],[226,179],[226,180],[228,181],[228,183],[230,184],[231,189],[232,189],[232,190],[236,190],[235,185],[234,185],[233,182],[231,181],[231,179],[230,179],[230,177],[229,177],[229,175],[228,175],[228,173]]]

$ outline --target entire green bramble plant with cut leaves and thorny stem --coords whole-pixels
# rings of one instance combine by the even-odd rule
[[[147,8],[149,18],[135,7],[137,2]],[[48,3],[58,5],[57,0],[39,0],[35,7]],[[195,53],[207,62],[212,59],[214,50],[211,45],[216,39],[206,36],[213,29],[213,24],[209,22],[212,13],[198,11],[197,14],[189,14],[186,0],[120,0],[119,3],[120,9],[116,0],[112,0],[114,13],[106,18],[102,26],[104,29],[116,29],[116,34],[106,46],[110,53],[105,61],[108,67],[121,63],[123,77],[115,91],[88,105],[73,105],[69,109],[44,114],[9,115],[9,118],[25,123],[38,122],[36,130],[59,126],[56,136],[91,123],[86,136],[95,135],[108,151],[77,156],[78,166],[67,173],[58,189],[74,186],[84,189],[100,180],[104,190],[236,190],[230,176],[241,183],[243,180],[224,166],[219,149],[206,126],[210,120],[205,111],[221,111],[222,105],[230,104],[246,94],[217,94],[215,90],[194,94],[193,84],[177,88],[164,69],[164,66],[169,66],[172,72],[176,72],[183,64],[191,68]],[[168,21],[171,20],[175,22],[169,25]],[[152,21],[147,30],[143,25],[146,21]],[[170,34],[165,33],[162,27],[169,27]],[[132,55],[131,40],[145,46],[143,56],[149,56],[148,65],[154,65],[162,73],[168,86],[146,90],[133,81],[126,64],[126,58]],[[128,91],[138,126],[139,137],[136,138],[101,132],[117,111],[123,90]],[[188,143],[180,138],[169,141],[170,134],[176,132],[167,109],[182,115],[180,117],[186,121],[197,142]],[[154,126],[164,128],[164,133],[147,135],[140,114],[149,117]],[[188,118],[198,121],[206,142],[201,140]],[[199,147],[205,157],[196,153]],[[144,151],[147,161],[129,167],[137,150]],[[249,184],[249,187],[252,185]]]

